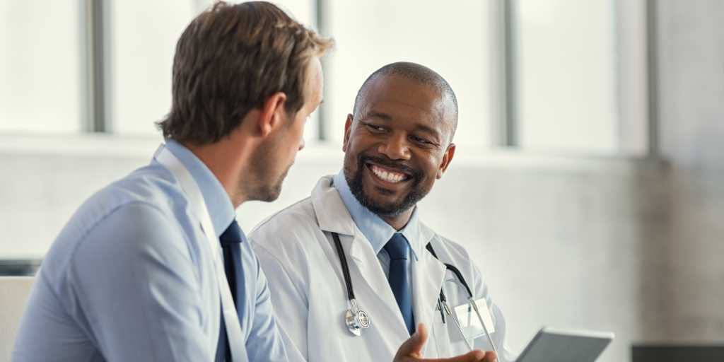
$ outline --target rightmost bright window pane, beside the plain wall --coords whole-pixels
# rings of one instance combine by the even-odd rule
[[[612,0],[519,0],[515,75],[522,148],[616,153]]]

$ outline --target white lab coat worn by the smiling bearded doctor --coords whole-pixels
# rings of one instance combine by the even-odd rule
[[[248,239],[269,281],[274,316],[285,341],[290,361],[392,361],[410,336],[392,294],[390,284],[369,241],[356,227],[332,176],[322,177],[311,198],[279,211],[257,225]],[[348,300],[340,258],[332,232],[340,235],[348,258],[357,305],[366,311],[370,327],[361,337],[346,327]],[[437,235],[421,224],[424,245],[429,240],[441,261],[457,266],[476,299],[485,298],[494,321],[492,338],[500,362],[514,361],[506,351],[505,319],[488,295],[479,269],[460,245]],[[440,287],[450,308],[467,303],[467,292],[452,280],[454,274],[424,250],[412,259],[412,306],[415,323],[424,323],[429,339],[424,358],[450,357],[468,350],[455,326],[442,323],[436,311]],[[480,305],[481,311],[484,306]],[[486,337],[474,340],[475,348],[490,350]]]

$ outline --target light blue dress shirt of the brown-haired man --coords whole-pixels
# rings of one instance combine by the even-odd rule
[[[216,235],[235,217],[188,148],[166,146],[201,188]],[[242,243],[237,311],[250,361],[287,361],[258,258]],[[214,361],[221,311],[213,259],[178,180],[156,160],[72,216],[33,285],[12,361]]]

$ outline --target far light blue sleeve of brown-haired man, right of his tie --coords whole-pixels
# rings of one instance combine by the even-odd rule
[[[249,361],[287,361],[287,352],[284,342],[282,342],[282,335],[279,334],[277,322],[274,319],[266,276],[264,271],[261,270],[261,264],[259,264],[256,254],[248,246],[248,243],[246,248],[248,250],[245,253],[253,256],[256,271],[256,305],[254,306],[251,334],[246,340]]]

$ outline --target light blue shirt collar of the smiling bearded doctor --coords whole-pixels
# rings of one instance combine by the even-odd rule
[[[369,240],[374,253],[378,254],[397,230],[357,201],[357,198],[352,195],[350,186],[347,184],[344,170],[334,176],[332,186],[337,189],[337,193],[339,193],[340,198],[342,198],[342,203],[344,203],[347,210],[350,211],[350,216],[352,216],[352,220],[362,232],[362,235]],[[405,239],[410,243],[410,250],[417,260],[418,256],[422,253],[424,243],[429,241],[423,240],[417,206],[415,206],[415,209],[412,211],[410,221],[400,230],[400,233],[405,236]]]

